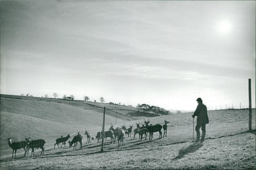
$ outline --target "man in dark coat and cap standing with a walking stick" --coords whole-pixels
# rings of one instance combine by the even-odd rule
[[[195,113],[192,115],[194,118],[196,118],[196,141],[195,142],[204,142],[205,137],[205,124],[209,123],[208,115],[207,115],[207,107],[203,104],[203,101],[201,98],[196,99],[198,105],[196,107]],[[202,138],[200,140],[200,128],[202,130]]]

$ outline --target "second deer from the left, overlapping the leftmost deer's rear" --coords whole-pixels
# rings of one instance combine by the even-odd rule
[[[32,148],[30,157],[32,157],[32,154],[33,154],[33,156],[35,156],[35,148],[41,148],[42,152],[41,152],[40,155],[42,155],[42,153],[44,155],[44,144],[46,143],[46,140],[44,140],[44,139],[31,140],[30,133],[29,133],[29,138],[25,137],[25,140],[26,140],[26,143],[27,143],[28,150],[30,148]]]

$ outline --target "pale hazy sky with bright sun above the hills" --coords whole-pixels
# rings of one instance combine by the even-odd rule
[[[255,108],[255,11],[255,1],[2,0],[0,93],[248,108],[251,79]]]

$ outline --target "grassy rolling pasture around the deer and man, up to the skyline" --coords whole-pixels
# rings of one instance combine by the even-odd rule
[[[86,144],[84,131],[87,128],[94,136],[100,131],[102,113],[97,110],[108,105],[40,99],[1,96],[0,169],[255,169],[255,109],[252,110],[251,132],[248,131],[248,110],[208,111],[210,123],[206,125],[206,138],[202,144],[192,142],[193,113],[149,117],[153,124],[163,125],[164,119],[170,122],[167,137],[158,139],[157,132],[151,141],[148,138],[138,141],[138,135],[133,139],[132,132],[132,138],[126,136],[120,147],[117,141],[110,144],[108,138],[104,152],[100,152],[97,141]],[[122,106],[119,107],[115,109],[121,110]],[[115,117],[106,115],[105,129],[115,121]],[[143,118],[139,121],[144,122]],[[133,119],[117,119],[114,128],[120,127],[121,123],[126,127],[133,125],[133,129],[136,126]],[[82,150],[73,150],[67,145],[54,149],[55,139],[60,134],[65,136],[77,130],[84,136]],[[17,151],[16,159],[11,159],[12,149],[8,146],[6,134],[13,134],[13,140],[20,141],[28,132],[32,139],[44,138],[47,141],[44,156],[40,156],[41,150],[36,150],[35,157],[30,158],[30,150],[29,155],[22,158],[24,151],[21,149]]]

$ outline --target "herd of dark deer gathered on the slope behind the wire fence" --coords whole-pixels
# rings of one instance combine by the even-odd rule
[[[165,137],[167,137],[166,136],[167,124],[170,122],[168,122],[167,120],[164,120],[163,126],[160,124],[152,125],[152,124],[149,124],[149,122],[150,122],[149,118],[148,118],[148,121],[146,121],[144,119],[144,124],[141,124],[142,126],[140,126],[140,122],[137,123],[137,121],[136,121],[137,128],[134,129],[134,131],[133,131],[133,133],[134,133],[133,138],[135,138],[135,135],[138,133],[139,140],[142,140],[143,135],[145,136],[145,140],[146,140],[148,133],[149,133],[149,140],[152,140],[154,132],[159,132],[159,138],[162,138],[162,132],[161,132],[162,128],[164,129]],[[113,141],[113,143],[115,143],[116,138],[117,138],[118,147],[121,145],[121,142],[122,142],[122,145],[124,145],[124,136],[128,135],[128,137],[131,137],[133,126],[130,126],[128,129],[126,129],[124,124],[122,124],[121,128],[117,127],[116,129],[114,129],[113,126],[114,125],[111,124],[109,130],[104,131],[105,143],[106,143],[107,138],[111,138],[110,144],[112,144],[112,141]],[[71,135],[74,135],[74,134],[75,133],[73,133]],[[65,147],[66,141],[69,138],[71,138],[71,135],[69,133],[66,137],[60,135],[61,136],[60,138],[55,139],[56,143],[54,144],[54,149],[55,149],[55,145],[57,145],[58,148],[61,148],[62,145],[64,145],[64,147]],[[85,128],[84,135],[86,135],[86,137],[87,137],[86,144],[87,144],[87,142],[91,143],[91,140],[94,140],[94,137],[92,137],[91,132],[88,132],[86,130],[86,128]],[[97,139],[97,143],[101,142],[101,136],[102,136],[102,131],[97,132],[97,135],[95,136],[95,140]],[[77,135],[74,136],[72,141],[70,141],[70,140],[68,141],[69,148],[71,148],[71,146],[74,144],[73,150],[76,149],[77,142],[79,142],[80,149],[82,149],[82,138],[83,138],[83,136],[80,134],[80,131],[77,131]],[[29,133],[28,138],[25,136],[25,141],[12,142],[12,136],[11,136],[11,138],[9,138],[8,135],[7,135],[7,139],[8,139],[8,145],[12,148],[12,158],[13,158],[13,152],[15,152],[15,159],[16,159],[17,149],[21,149],[21,148],[23,148],[25,151],[23,158],[26,157],[26,154],[28,153],[30,148],[32,149],[31,157],[32,157],[32,153],[34,153],[33,156],[35,156],[35,148],[37,148],[37,149],[40,148],[42,150],[40,155],[42,155],[42,154],[44,155],[44,144],[46,143],[46,140],[44,140],[44,139],[31,140],[30,133]],[[61,144],[61,146],[59,146],[60,144]]]

